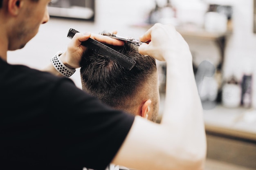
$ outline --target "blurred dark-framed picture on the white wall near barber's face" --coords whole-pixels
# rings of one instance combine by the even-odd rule
[[[48,11],[53,17],[94,20],[94,0],[52,0]]]

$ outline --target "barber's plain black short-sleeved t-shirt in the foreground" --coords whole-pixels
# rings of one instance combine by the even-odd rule
[[[68,78],[0,59],[0,169],[104,170],[133,121]]]

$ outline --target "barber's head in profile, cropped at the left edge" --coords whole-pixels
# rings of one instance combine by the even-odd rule
[[[0,31],[8,40],[8,50],[21,49],[49,20],[50,0],[1,0]],[[1,36],[2,36],[1,34]]]

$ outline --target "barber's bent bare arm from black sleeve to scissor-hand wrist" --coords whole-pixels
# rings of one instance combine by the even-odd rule
[[[181,55],[190,59],[182,61]],[[180,61],[167,62],[166,103],[161,124],[136,117],[113,162],[141,170],[203,169],[206,139],[192,57],[189,51],[178,57]]]

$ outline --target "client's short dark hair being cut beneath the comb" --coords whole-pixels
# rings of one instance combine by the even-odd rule
[[[129,71],[105,56],[88,50],[81,61],[82,87],[103,103],[119,107],[152,77],[156,72],[156,63],[153,57],[140,55],[134,44],[108,46],[135,60],[135,66]]]

